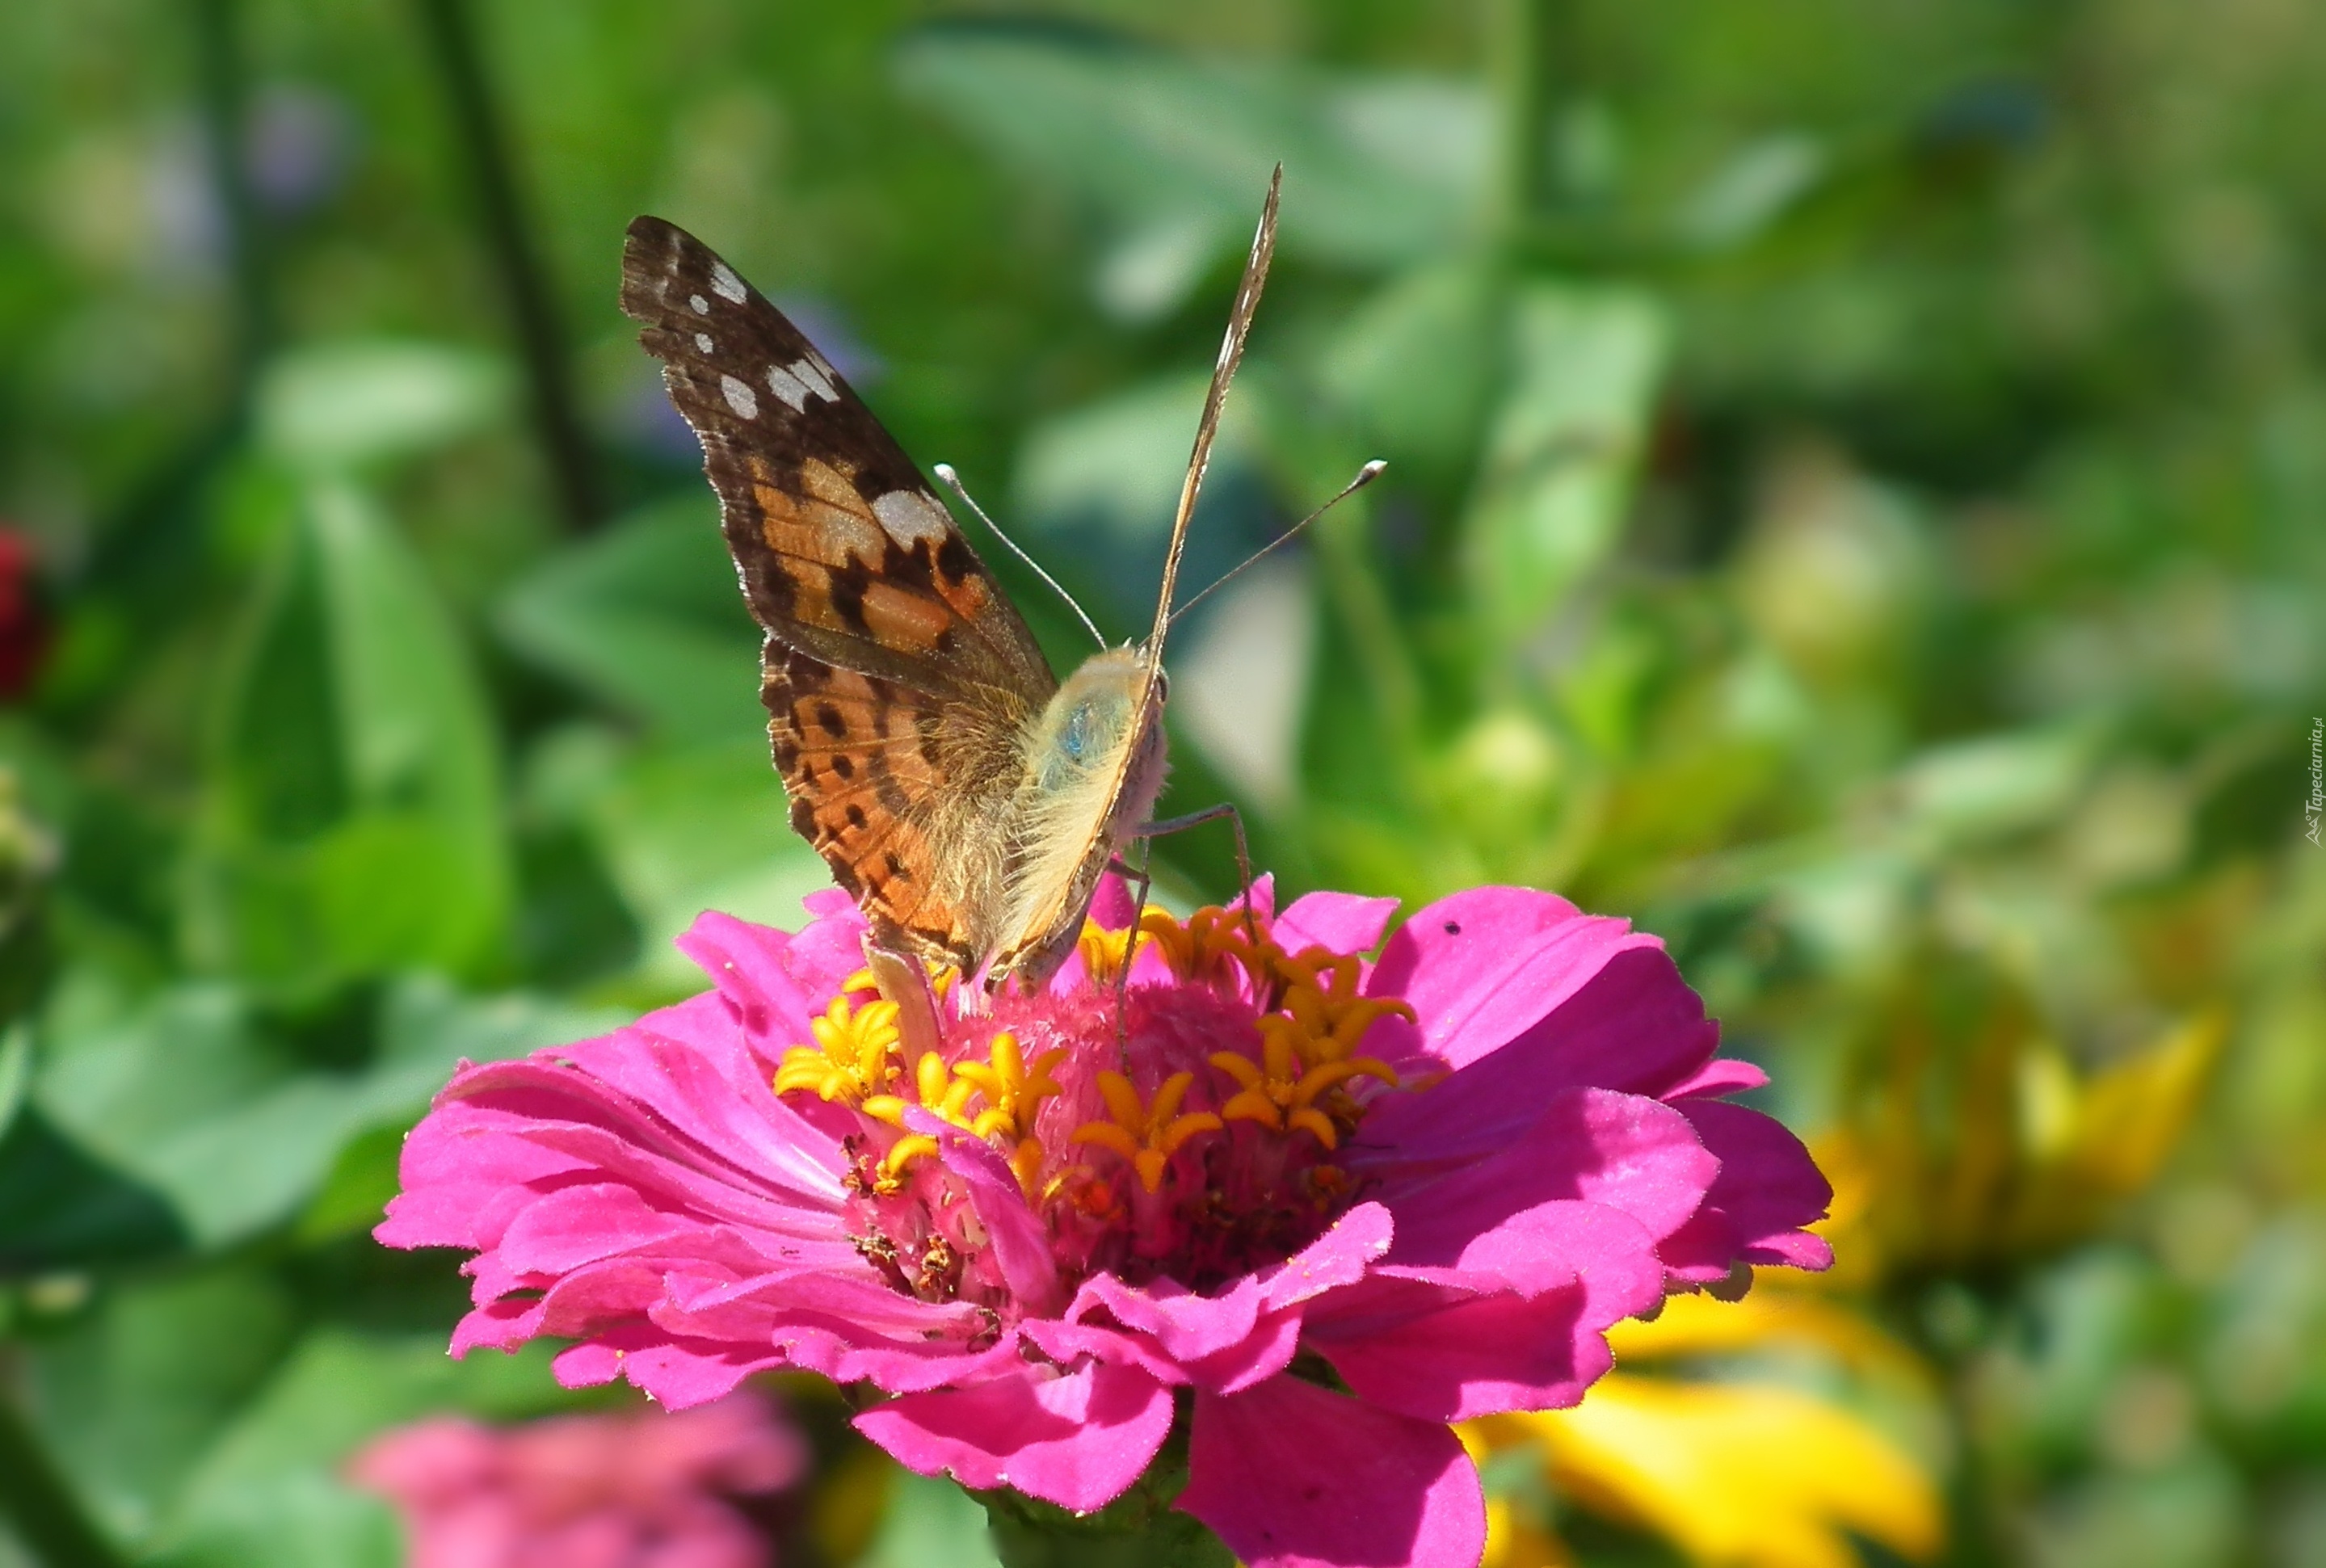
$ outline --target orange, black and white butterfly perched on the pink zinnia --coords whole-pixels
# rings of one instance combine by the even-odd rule
[[[765,630],[761,700],[791,826],[877,947],[984,970],[989,986],[1040,984],[1072,952],[1119,847],[1172,826],[1149,821],[1165,770],[1163,635],[1275,254],[1282,181],[1279,165],[1196,423],[1154,630],[1065,682],[921,470],[800,328],[686,230],[630,223],[621,307],[702,442]]]

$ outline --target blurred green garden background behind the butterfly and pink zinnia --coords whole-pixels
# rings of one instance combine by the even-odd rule
[[[0,7],[0,1563],[395,1563],[358,1442],[588,1403],[368,1226],[823,884],[623,223],[1123,637],[1282,158],[1189,582],[1391,468],[1191,616],[1165,807],[1647,924],[1840,1186],[1472,1433],[1491,1559],[2326,1566],[2326,9],[1000,9]],[[977,1561],[793,1396],[784,1561]]]

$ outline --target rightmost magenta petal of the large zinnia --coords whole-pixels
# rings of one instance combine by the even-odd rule
[[[1803,1228],[1824,1219],[1833,1186],[1798,1138],[1744,1105],[1682,1100],[1677,1110],[1721,1161],[1703,1207],[1658,1247],[1677,1277],[1710,1284],[1733,1263],[1833,1263],[1824,1238]]]

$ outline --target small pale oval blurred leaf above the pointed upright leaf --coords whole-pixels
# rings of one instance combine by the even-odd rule
[[[351,468],[481,430],[509,405],[502,361],[433,342],[330,342],[258,384],[258,442],[293,468]]]

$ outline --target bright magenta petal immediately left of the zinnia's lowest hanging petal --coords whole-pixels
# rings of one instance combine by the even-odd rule
[[[1077,1514],[1140,1477],[1170,1433],[1170,1391],[1130,1366],[1093,1361],[1063,1377],[1000,1377],[907,1394],[856,1417],[856,1431],[921,1475],[951,1470],[977,1491],[1016,1487]]]

